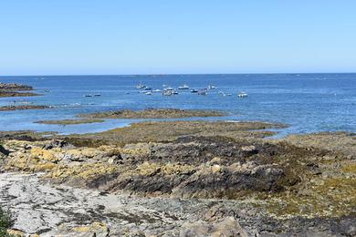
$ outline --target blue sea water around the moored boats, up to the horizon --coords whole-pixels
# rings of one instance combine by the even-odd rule
[[[200,108],[218,109],[234,120],[261,120],[288,124],[280,135],[316,131],[356,132],[356,74],[238,74],[238,75],[156,75],[156,76],[39,76],[0,77],[1,82],[33,86],[40,97],[0,98],[0,106],[16,101],[55,108],[0,112],[1,130],[30,129],[60,133],[97,132],[127,126],[132,119],[107,119],[104,123],[83,125],[44,125],[34,121],[75,118],[120,108]],[[151,88],[169,85],[190,88],[214,85],[206,96],[180,90],[164,97],[140,93],[138,84]],[[231,93],[232,96],[224,96]],[[237,98],[240,91],[247,98]],[[84,97],[100,94],[100,97]],[[206,118],[205,118],[206,119]]]

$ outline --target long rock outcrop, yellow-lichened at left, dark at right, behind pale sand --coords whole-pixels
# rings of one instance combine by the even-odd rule
[[[300,180],[278,162],[282,146],[246,140],[185,137],[169,143],[75,148],[64,141],[8,141],[5,170],[45,171],[77,187],[176,198],[236,199],[280,192]],[[302,149],[290,152],[301,155]]]

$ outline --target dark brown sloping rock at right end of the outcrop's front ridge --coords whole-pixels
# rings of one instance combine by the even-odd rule
[[[201,167],[173,190],[173,197],[235,199],[240,191],[282,191],[283,170],[273,165],[234,163]]]

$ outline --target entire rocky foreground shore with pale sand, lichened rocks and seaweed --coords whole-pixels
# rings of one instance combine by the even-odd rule
[[[354,236],[355,136],[264,139],[281,127],[166,121],[85,135],[2,134],[10,232]]]

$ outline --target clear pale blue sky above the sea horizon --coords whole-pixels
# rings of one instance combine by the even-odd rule
[[[356,72],[354,0],[0,0],[0,75]]]

